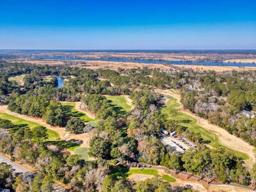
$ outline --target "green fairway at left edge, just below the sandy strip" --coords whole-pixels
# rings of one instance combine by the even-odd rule
[[[9,115],[9,114],[6,114],[6,113],[0,113],[0,118],[10,120],[14,125],[17,125],[16,126],[17,128],[18,127],[29,127],[30,129],[34,129],[37,126],[42,126],[41,124],[31,122],[31,121],[27,121],[25,119],[15,117],[13,115]],[[54,140],[56,140],[56,138],[60,138],[59,133],[56,132],[56,131],[47,129],[47,133],[49,135],[49,138],[47,140],[49,140],[49,141],[50,140],[54,141]]]

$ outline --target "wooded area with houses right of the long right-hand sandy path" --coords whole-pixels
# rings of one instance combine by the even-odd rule
[[[199,89],[182,89],[183,106],[256,146],[255,71],[210,71],[196,79]]]

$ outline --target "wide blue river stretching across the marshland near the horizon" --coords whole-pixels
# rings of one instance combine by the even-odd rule
[[[8,54],[17,57],[32,57],[41,59],[55,59],[55,60],[87,60],[87,61],[113,61],[113,62],[139,62],[150,64],[174,64],[174,65],[202,65],[202,66],[244,66],[244,67],[256,67],[256,63],[233,63],[233,62],[213,62],[213,61],[160,61],[160,60],[143,60],[143,59],[91,59],[91,58],[76,58],[76,57],[54,57],[47,55],[32,55],[32,54]]]

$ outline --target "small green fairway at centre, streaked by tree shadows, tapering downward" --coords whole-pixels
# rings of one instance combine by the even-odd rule
[[[127,105],[126,99],[124,96],[108,96],[106,98],[115,107],[115,111],[121,117],[124,116],[126,112],[132,109],[132,106]]]

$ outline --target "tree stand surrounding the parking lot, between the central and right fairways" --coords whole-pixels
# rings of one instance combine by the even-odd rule
[[[199,134],[191,134],[189,138],[197,143],[198,148],[189,149],[185,154],[177,154],[171,147],[164,146],[158,139],[161,129],[177,131],[186,137],[190,132],[177,121],[169,121],[159,113],[157,104],[162,98],[154,92],[134,92],[131,98],[134,109],[124,119],[115,116],[114,109],[111,109],[105,97],[86,95],[83,98],[87,108],[96,113],[99,123],[98,135],[90,142],[90,155],[119,163],[137,159],[139,162],[163,165],[177,171],[193,172],[200,175],[200,178],[249,185],[250,174],[239,159],[226,149],[209,149],[200,144],[203,140]],[[102,116],[101,113],[108,116]],[[121,124],[121,121],[127,125]],[[120,133],[125,130],[127,136]]]

